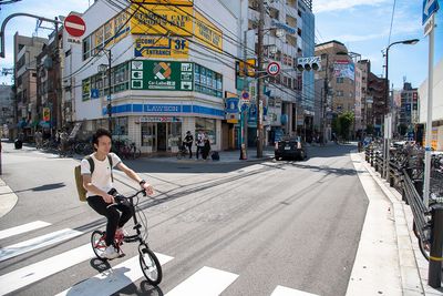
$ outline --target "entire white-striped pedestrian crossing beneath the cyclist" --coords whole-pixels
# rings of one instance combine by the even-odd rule
[[[50,225],[50,223],[42,221],[19,225],[17,227],[0,231],[0,239],[17,236],[34,229],[45,227],[49,229],[48,226]],[[69,242],[82,234],[82,232],[65,228],[7,246],[0,249],[0,263],[32,251],[43,249],[44,247],[49,247],[56,243]],[[174,261],[174,257],[172,256],[161,253],[155,254],[162,266]],[[6,273],[0,276],[0,295],[16,294],[21,288],[31,287],[33,284],[44,280],[50,276],[54,276],[58,273],[69,268],[75,268],[75,265],[89,264],[87,261],[91,261],[94,257],[95,255],[92,251],[91,244],[89,243]],[[143,278],[144,275],[140,267],[138,256],[134,256],[100,274],[96,274],[95,276],[83,278],[79,283],[72,283],[71,287],[60,293],[56,292],[59,293],[56,295],[112,295]],[[238,274],[209,266],[203,266],[190,274],[182,283],[172,287],[165,296],[217,296],[235,284],[238,278],[240,278],[240,275]],[[167,283],[162,283],[161,286],[162,285],[167,285]],[[315,295],[289,287],[277,286],[270,296]]]

